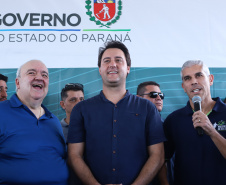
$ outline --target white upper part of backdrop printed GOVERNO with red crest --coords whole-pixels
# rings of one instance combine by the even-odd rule
[[[97,67],[103,43],[122,41],[132,67],[226,67],[225,0],[7,0],[0,6],[0,68],[39,59],[50,68]]]

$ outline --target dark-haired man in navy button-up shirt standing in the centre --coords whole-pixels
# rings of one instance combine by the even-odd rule
[[[72,110],[69,163],[84,184],[149,184],[164,162],[156,107],[126,90],[128,49],[112,41],[100,49],[103,90]]]

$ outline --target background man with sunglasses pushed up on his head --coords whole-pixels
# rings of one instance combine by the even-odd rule
[[[83,85],[80,83],[68,83],[61,91],[60,105],[66,112],[66,118],[61,120],[64,137],[67,140],[68,126],[73,107],[84,100]]]

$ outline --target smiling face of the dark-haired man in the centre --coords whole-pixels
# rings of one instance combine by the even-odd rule
[[[123,51],[117,48],[107,49],[101,58],[99,72],[104,86],[115,87],[120,84],[125,85],[130,67],[127,66]]]

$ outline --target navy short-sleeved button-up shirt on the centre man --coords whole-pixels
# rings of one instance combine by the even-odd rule
[[[147,147],[163,141],[154,104],[128,91],[117,104],[101,91],[71,113],[68,143],[85,142],[84,159],[101,184],[131,184],[149,157]]]

